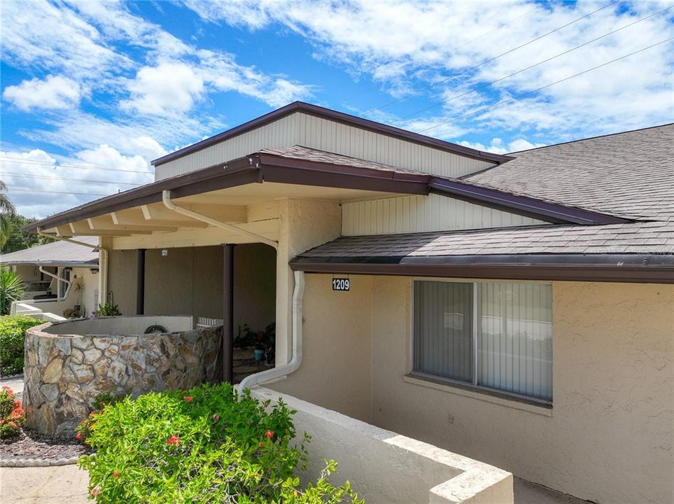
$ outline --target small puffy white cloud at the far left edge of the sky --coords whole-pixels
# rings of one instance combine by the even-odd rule
[[[45,80],[34,78],[19,85],[8,86],[3,98],[17,109],[73,109],[81,97],[80,85],[63,76],[48,76]]]

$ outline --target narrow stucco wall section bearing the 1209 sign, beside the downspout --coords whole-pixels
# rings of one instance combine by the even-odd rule
[[[372,278],[353,276],[349,292],[335,292],[331,275],[307,275],[302,318],[300,369],[267,386],[372,421]]]

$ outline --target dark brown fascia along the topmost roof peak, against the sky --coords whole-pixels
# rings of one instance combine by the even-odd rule
[[[157,167],[169,161],[182,158],[185,155],[201,151],[202,149],[212,146],[213,144],[218,144],[218,142],[232,139],[234,137],[239,136],[240,134],[244,134],[248,131],[254,130],[255,128],[267,125],[269,123],[274,122],[275,120],[279,120],[295,112],[302,112],[309,114],[310,116],[316,116],[319,118],[332,120],[335,121],[336,123],[342,123],[345,125],[358,127],[362,130],[384,134],[388,137],[393,137],[400,140],[412,142],[413,144],[437,148],[440,149],[441,151],[447,151],[450,153],[463,155],[467,158],[483,160],[486,162],[493,162],[496,164],[500,164],[513,159],[512,156],[505,156],[500,154],[488,153],[484,151],[477,151],[476,149],[460,146],[458,144],[452,144],[451,142],[448,141],[435,139],[433,137],[427,137],[426,135],[409,132],[407,130],[402,130],[400,128],[385,125],[382,123],[376,123],[372,120],[351,116],[350,114],[347,113],[325,109],[324,107],[321,106],[307,104],[304,102],[293,102],[291,104],[281,107],[281,109],[276,109],[275,111],[269,112],[264,116],[260,116],[253,120],[250,120],[248,121],[248,123],[244,123],[242,125],[232,128],[231,130],[218,133],[213,137],[199,141],[196,144],[183,147],[178,151],[164,155],[161,158],[157,158],[152,161],[152,165]]]

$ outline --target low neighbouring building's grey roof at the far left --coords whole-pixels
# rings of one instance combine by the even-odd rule
[[[40,265],[40,266],[81,266],[98,264],[98,237],[74,237],[76,241],[91,244],[91,248],[69,243],[52,241],[23,250],[0,255],[0,264]]]

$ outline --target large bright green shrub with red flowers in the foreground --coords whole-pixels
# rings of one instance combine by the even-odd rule
[[[237,400],[229,384],[125,398],[92,416],[96,454],[78,465],[99,503],[362,503],[348,484],[328,482],[332,461],[300,486],[309,437],[291,447],[294,412],[267,406]]]

